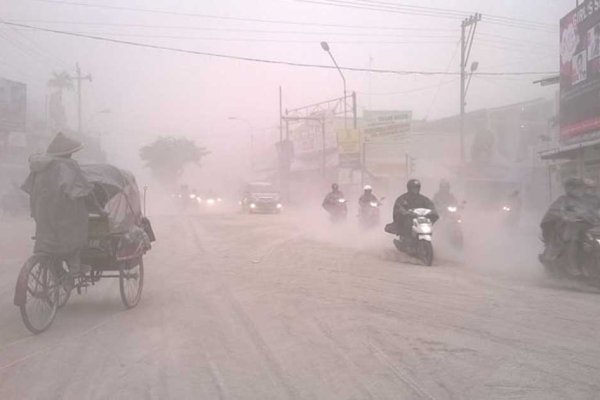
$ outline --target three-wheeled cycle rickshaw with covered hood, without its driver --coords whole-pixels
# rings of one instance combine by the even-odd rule
[[[89,215],[88,244],[81,252],[81,263],[90,266],[91,272],[73,279],[65,260],[47,254],[34,254],[27,260],[17,279],[14,304],[20,308],[25,326],[35,334],[48,329],[73,289],[81,294],[100,279],[119,279],[121,300],[127,308],[135,307],[142,295],[143,256],[155,237],[145,210],[142,212],[135,177],[108,164],[82,165],[81,169],[106,212]]]

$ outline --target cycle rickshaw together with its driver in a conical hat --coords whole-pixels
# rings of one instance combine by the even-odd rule
[[[34,255],[19,274],[15,305],[33,333],[46,330],[71,290],[118,278],[126,307],[140,300],[143,255],[154,240],[134,176],[108,164],[80,166],[81,143],[59,133],[30,157],[23,185],[36,222]]]

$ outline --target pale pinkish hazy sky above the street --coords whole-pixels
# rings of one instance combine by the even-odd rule
[[[348,1],[358,4],[358,0]],[[460,19],[294,0],[69,0],[239,18],[236,20],[35,0],[1,2],[5,20],[182,49],[331,65],[319,45],[327,40],[341,66],[455,72],[459,64]],[[482,72],[557,71],[558,22],[575,6],[574,0],[393,3],[482,13],[471,58],[479,62]],[[554,29],[549,25],[522,29],[493,24],[486,22],[486,15],[552,24]],[[365,26],[396,29],[364,29]],[[285,106],[290,108],[342,93],[341,79],[335,70],[178,54],[0,25],[0,75],[26,82],[31,108],[40,114],[51,71],[73,72],[76,62],[85,73],[93,75],[93,82],[86,83],[84,89],[84,121],[95,130],[116,132],[106,138],[113,144],[115,135],[119,141],[127,141],[160,133],[192,135],[209,144],[228,142],[231,135],[245,135],[249,129],[246,123],[228,120],[230,116],[247,119],[260,140],[269,140],[273,135],[264,136],[262,131],[278,122],[279,85],[283,87]],[[345,72],[345,75],[348,90],[358,93],[359,110],[410,109],[417,118],[436,118],[458,111],[456,76],[359,72]],[[468,107],[552,96],[556,88],[532,85],[536,78],[474,78]],[[71,111],[74,99],[74,92],[67,94]],[[104,108],[112,113],[97,114]],[[74,126],[72,113],[70,121]]]

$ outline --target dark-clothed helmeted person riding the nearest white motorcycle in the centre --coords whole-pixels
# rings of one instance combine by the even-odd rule
[[[439,216],[435,205],[426,196],[421,194],[421,182],[418,179],[410,179],[406,183],[407,192],[396,199],[394,203],[394,225],[401,237],[409,237],[412,229],[413,214],[415,208],[427,208],[431,210],[428,218],[431,222],[438,220]]]

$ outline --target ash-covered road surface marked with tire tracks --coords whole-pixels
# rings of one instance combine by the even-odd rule
[[[600,399],[598,293],[402,263],[390,238],[301,221],[155,218],[138,307],[103,282],[39,336],[12,305],[11,246],[0,399]]]

